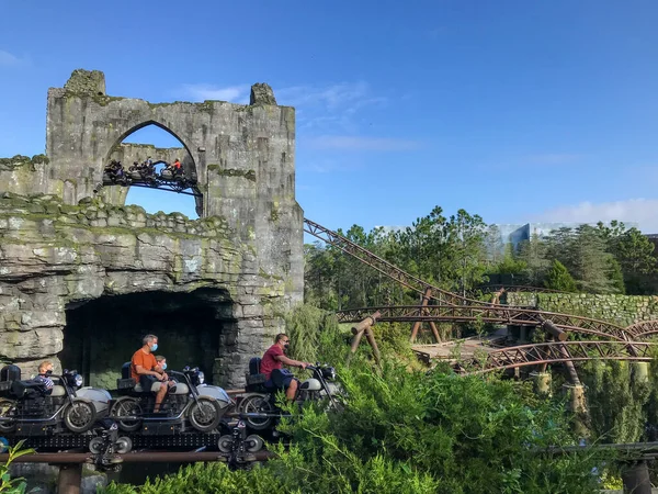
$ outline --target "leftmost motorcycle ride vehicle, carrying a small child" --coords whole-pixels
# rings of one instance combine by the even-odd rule
[[[0,433],[16,436],[49,436],[87,433],[107,415],[111,396],[105,390],[82,388],[82,375],[65,370],[47,374],[54,385],[21,380],[18,366],[0,371]]]

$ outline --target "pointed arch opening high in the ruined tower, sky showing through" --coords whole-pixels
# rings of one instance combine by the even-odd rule
[[[196,184],[196,162],[188,145],[170,128],[155,121],[144,122],[122,134],[111,148],[105,164],[121,161],[124,169],[140,165],[147,159],[157,164],[156,173],[167,164],[179,159],[182,164],[184,181],[167,183],[135,182],[128,187],[105,187],[104,199],[112,204],[137,204],[148,213],[179,212],[196,218],[203,213],[203,195]],[[180,187],[183,184],[182,187]]]

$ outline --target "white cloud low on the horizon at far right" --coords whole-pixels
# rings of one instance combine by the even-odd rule
[[[613,202],[581,202],[559,206],[536,216],[540,222],[595,223],[619,220],[637,223],[645,233],[658,233],[658,199],[629,199]]]

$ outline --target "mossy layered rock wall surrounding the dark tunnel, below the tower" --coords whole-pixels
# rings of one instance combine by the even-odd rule
[[[66,310],[106,295],[214,290],[215,381],[243,385],[249,357],[284,329],[284,277],[260,269],[256,247],[218,216],[147,214],[139,206],[0,193],[0,363],[59,367]],[[228,308],[227,308],[228,307]],[[111,349],[109,349],[111,351]]]

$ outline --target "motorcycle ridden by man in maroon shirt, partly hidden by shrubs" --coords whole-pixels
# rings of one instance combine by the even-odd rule
[[[247,394],[238,406],[238,413],[245,418],[247,425],[253,430],[271,428],[282,414],[276,407],[276,392],[282,390],[277,383],[276,371],[272,372],[274,388],[265,388],[265,375],[260,373],[259,357],[249,360],[247,374]],[[337,379],[336,369],[328,364],[307,366],[313,372],[310,379],[299,384],[295,403],[302,405],[308,401],[327,400],[331,409],[340,411],[342,405],[342,389]]]

